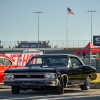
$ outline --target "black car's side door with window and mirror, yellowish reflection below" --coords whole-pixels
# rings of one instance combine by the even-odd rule
[[[81,77],[82,77],[82,63],[81,61],[74,56],[69,57],[71,61],[71,65],[69,67],[69,81],[71,84],[80,84]]]

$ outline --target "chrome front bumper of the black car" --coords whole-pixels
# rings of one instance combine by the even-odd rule
[[[58,79],[15,79],[4,80],[5,85],[10,86],[57,86]]]

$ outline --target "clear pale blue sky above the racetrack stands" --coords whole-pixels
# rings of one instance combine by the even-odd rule
[[[69,7],[75,15],[67,15]],[[100,0],[0,0],[0,40],[37,41],[38,14],[39,40],[91,39],[100,35]]]

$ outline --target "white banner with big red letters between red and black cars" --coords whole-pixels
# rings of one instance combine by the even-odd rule
[[[14,53],[14,54],[9,54],[6,53],[10,60],[15,64],[15,65],[22,65],[25,66],[26,63],[31,59],[31,57],[35,55],[41,55],[43,54],[42,52],[40,53]]]

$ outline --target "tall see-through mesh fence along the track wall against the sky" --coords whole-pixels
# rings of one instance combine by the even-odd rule
[[[19,42],[21,41],[1,41],[0,47],[15,48]],[[90,40],[68,40],[67,43],[65,40],[47,40],[47,42],[51,48],[82,48],[86,46]]]

